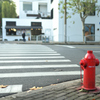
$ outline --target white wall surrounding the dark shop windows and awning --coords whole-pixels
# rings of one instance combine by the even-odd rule
[[[6,21],[16,21],[16,26],[31,26],[31,22],[42,22],[42,33],[45,33],[46,29],[51,29],[50,38],[52,38],[52,21],[46,19],[17,19],[17,18],[3,18],[3,28],[2,28],[2,38],[8,41],[14,41],[15,39],[22,39],[22,36],[6,36]],[[28,36],[26,36],[26,41],[28,41]]]

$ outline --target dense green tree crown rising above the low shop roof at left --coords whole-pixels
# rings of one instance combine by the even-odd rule
[[[2,3],[2,18],[16,18],[16,5],[12,0],[4,0]]]

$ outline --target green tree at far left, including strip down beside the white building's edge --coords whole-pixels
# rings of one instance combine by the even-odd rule
[[[12,0],[0,0],[0,31],[2,18],[16,18],[16,5]]]

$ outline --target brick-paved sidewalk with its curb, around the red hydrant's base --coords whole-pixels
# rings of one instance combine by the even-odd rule
[[[78,87],[80,79],[10,95],[0,100],[100,100],[100,92],[81,92],[77,90]],[[96,76],[96,87],[100,87],[100,75]]]

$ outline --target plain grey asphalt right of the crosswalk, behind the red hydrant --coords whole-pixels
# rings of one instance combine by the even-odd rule
[[[88,50],[92,50],[95,57],[100,60],[100,45],[49,45],[49,47],[65,56],[65,58],[68,57],[72,63],[76,63],[78,65],[80,60],[84,58]],[[100,74],[100,65],[96,67],[96,74]]]

